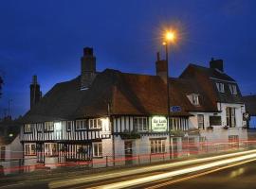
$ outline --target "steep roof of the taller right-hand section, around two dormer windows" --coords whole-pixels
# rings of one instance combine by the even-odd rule
[[[202,88],[202,93],[208,96],[211,104],[216,106],[216,102],[243,104],[242,94],[236,81],[226,73],[216,69],[211,69],[195,64],[190,64],[180,78],[192,79]],[[225,93],[219,93],[216,82],[225,84]],[[230,93],[229,84],[236,85],[238,94]],[[217,107],[215,107],[217,109]]]

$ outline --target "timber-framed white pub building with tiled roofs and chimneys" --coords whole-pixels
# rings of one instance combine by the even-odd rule
[[[168,160],[188,155],[188,146],[192,153],[210,150],[212,143],[247,140],[245,105],[222,60],[166,76],[167,62],[159,56],[155,76],[97,72],[93,49],[85,47],[80,76],[57,83],[44,96],[34,77],[20,137],[25,165],[101,166],[105,158],[121,164],[138,161],[131,159],[138,155],[139,161]]]

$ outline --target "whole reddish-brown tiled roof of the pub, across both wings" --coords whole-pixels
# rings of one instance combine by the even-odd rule
[[[169,78],[170,106],[180,106],[172,116],[190,116],[189,112],[218,112],[216,102],[240,102],[221,96],[211,77],[234,82],[224,73],[190,64],[178,78]],[[81,79],[56,84],[24,117],[25,123],[67,120],[106,115],[167,115],[167,86],[158,76],[121,73],[106,69],[98,73],[91,87],[81,90]],[[199,94],[200,106],[194,106],[188,94]]]

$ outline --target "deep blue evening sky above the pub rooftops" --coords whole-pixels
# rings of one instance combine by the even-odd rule
[[[44,94],[80,74],[83,46],[93,46],[98,70],[155,74],[159,37],[174,26],[180,39],[170,71],[223,59],[243,94],[256,93],[256,1],[251,0],[6,0],[0,4],[0,116],[27,112],[32,75]]]

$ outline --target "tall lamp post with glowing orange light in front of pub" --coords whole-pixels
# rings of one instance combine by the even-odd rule
[[[166,86],[167,86],[167,113],[168,113],[168,128],[169,128],[169,150],[170,150],[170,158],[172,158],[172,146],[171,146],[171,128],[170,128],[170,86],[169,86],[169,45],[173,43],[175,39],[175,35],[173,31],[167,31],[165,34],[163,45],[165,46],[165,60],[166,60]]]

